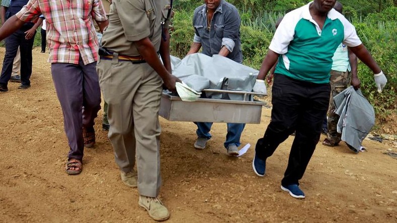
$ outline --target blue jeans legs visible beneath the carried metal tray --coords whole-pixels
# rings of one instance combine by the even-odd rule
[[[207,140],[211,139],[211,126],[213,123],[194,123],[197,125],[196,134],[198,137],[207,138]],[[228,123],[227,124],[227,135],[226,142],[224,143],[225,148],[228,148],[229,145],[234,144],[237,147],[241,145],[240,137],[243,132],[245,124],[241,123]]]

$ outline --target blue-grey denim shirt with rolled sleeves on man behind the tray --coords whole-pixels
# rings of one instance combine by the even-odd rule
[[[222,46],[230,53],[227,58],[242,63],[243,56],[240,42],[240,16],[236,7],[221,0],[208,29],[207,7],[202,5],[194,10],[193,27],[195,31],[193,42],[201,43],[202,53],[212,56],[218,54]]]

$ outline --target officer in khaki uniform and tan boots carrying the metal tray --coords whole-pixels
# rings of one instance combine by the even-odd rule
[[[162,85],[175,91],[175,82],[180,81],[171,74],[171,8],[170,0],[113,0],[97,64],[108,103],[108,136],[121,179],[130,187],[137,186],[133,169],[137,157],[139,205],[155,220],[169,218],[167,208],[157,198]]]

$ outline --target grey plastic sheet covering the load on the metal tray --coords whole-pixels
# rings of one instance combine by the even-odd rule
[[[196,91],[223,89],[252,91],[259,71],[229,58],[194,53],[182,60],[171,56],[172,74]],[[206,93],[209,98],[243,100],[241,94]]]

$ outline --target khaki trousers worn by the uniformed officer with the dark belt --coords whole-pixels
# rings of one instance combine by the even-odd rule
[[[156,197],[160,190],[160,123],[162,80],[147,63],[98,60],[97,72],[108,103],[109,140],[121,171],[138,167],[141,195]]]

